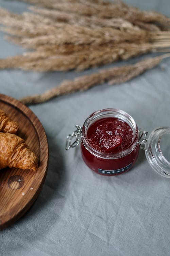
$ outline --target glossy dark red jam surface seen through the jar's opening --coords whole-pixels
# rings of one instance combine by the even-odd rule
[[[133,140],[131,127],[114,117],[107,117],[92,124],[87,131],[92,147],[102,152],[117,153],[125,150]]]

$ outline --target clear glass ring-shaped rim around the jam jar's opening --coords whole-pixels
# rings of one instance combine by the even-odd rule
[[[99,150],[96,150],[94,147],[91,146],[91,144],[89,143],[88,139],[87,139],[87,130],[88,127],[94,123],[96,120],[102,119],[104,117],[116,117],[121,119],[122,121],[128,123],[128,125],[130,125],[130,127],[133,130],[133,140],[131,142],[131,144],[129,145],[128,148],[126,148],[125,150],[122,150],[118,153],[105,153],[105,152],[101,152]],[[86,149],[93,154],[96,157],[99,158],[104,158],[104,159],[116,159],[116,158],[121,158],[125,155],[130,154],[134,148],[136,147],[139,139],[138,139],[138,127],[137,124],[135,123],[135,120],[133,119],[132,116],[130,116],[128,113],[119,110],[119,109],[101,109],[98,111],[93,112],[91,115],[89,115],[84,124],[83,124],[83,129],[82,129],[82,134],[83,134],[83,144],[86,147]]]

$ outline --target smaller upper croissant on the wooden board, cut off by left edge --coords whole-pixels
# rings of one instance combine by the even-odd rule
[[[19,126],[16,122],[12,121],[6,113],[0,109],[0,131],[16,133]]]

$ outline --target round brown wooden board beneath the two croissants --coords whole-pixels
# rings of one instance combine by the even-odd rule
[[[38,170],[0,170],[0,230],[13,224],[37,198],[48,169],[49,151],[44,128],[36,115],[20,101],[0,94],[0,109],[19,124],[23,138],[39,160]]]

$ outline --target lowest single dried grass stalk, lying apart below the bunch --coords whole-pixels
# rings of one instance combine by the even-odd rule
[[[108,81],[109,84],[123,83],[129,81],[144,71],[155,67],[162,59],[167,57],[170,57],[170,54],[165,54],[155,58],[148,58],[139,61],[134,65],[104,69],[98,73],[77,77],[74,80],[66,80],[63,81],[59,86],[48,90],[43,94],[27,96],[20,99],[20,101],[22,101],[24,104],[42,103],[54,97],[74,93],[76,91],[87,90],[92,86],[102,84],[106,81]]]

